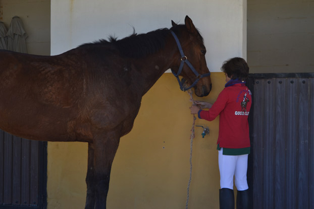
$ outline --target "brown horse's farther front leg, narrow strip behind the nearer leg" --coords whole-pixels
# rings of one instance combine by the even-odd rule
[[[92,143],[88,143],[88,163],[87,163],[87,175],[86,175],[86,203],[85,209],[94,209],[95,207],[95,184],[94,184],[94,148]]]

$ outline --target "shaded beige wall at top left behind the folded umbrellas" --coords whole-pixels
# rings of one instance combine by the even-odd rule
[[[0,0],[0,21],[7,29],[14,16],[21,18],[28,34],[27,53],[49,55],[50,0]]]

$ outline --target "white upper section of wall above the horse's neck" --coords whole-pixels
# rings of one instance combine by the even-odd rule
[[[109,35],[170,28],[188,15],[200,30],[211,72],[227,58],[246,58],[246,0],[52,0],[51,55]]]

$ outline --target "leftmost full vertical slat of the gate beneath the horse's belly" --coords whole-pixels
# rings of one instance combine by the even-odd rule
[[[4,204],[12,203],[12,135],[4,134]]]

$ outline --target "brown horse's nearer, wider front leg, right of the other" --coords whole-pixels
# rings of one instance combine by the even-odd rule
[[[119,146],[119,141],[120,136],[115,133],[110,133],[101,138],[94,139],[93,182],[95,209],[106,208],[110,172]]]

